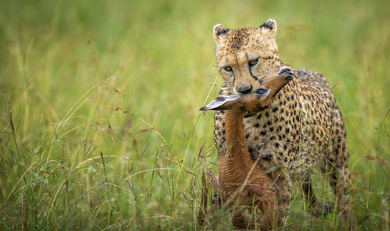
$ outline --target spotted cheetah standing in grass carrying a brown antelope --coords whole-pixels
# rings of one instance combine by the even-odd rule
[[[288,66],[276,45],[276,22],[258,28],[214,27],[216,61],[223,77],[219,95],[253,93],[270,71]],[[299,182],[314,215],[329,213],[313,194],[312,166],[329,176],[338,213],[345,217],[349,202],[348,147],[343,117],[325,77],[293,69],[294,79],[276,95],[271,107],[247,112],[244,132],[252,159],[273,179],[281,225],[288,224],[292,182]],[[226,149],[225,111],[214,115],[214,140],[219,155]],[[298,174],[296,174],[298,173]],[[298,177],[297,177],[298,176]]]

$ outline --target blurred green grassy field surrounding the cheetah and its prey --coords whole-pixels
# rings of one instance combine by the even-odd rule
[[[390,229],[390,1],[0,5],[1,230],[197,230],[217,160],[198,111],[222,83],[212,28],[268,18],[284,62],[337,86],[355,226]],[[296,190],[289,227],[337,230],[337,216],[305,213]]]

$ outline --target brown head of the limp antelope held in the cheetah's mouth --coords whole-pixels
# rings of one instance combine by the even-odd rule
[[[260,87],[253,93],[221,95],[200,110],[230,110],[240,107],[243,111],[257,113],[272,105],[276,94],[293,79],[293,76],[290,67],[274,69],[263,78]]]

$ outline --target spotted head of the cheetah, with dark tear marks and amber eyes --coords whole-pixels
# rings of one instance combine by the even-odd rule
[[[234,95],[254,92],[264,81],[262,76],[284,66],[279,59],[276,29],[272,19],[258,28],[230,30],[221,24],[215,25],[218,70]]]

